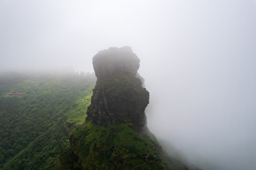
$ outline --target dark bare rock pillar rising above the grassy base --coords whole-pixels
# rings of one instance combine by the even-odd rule
[[[96,126],[110,126],[132,122],[137,131],[146,124],[144,110],[149,92],[136,76],[140,59],[130,47],[109,48],[93,58],[97,83],[93,89],[86,122]]]

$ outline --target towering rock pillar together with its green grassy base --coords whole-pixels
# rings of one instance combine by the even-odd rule
[[[97,83],[86,122],[60,155],[60,170],[188,170],[165,154],[146,126],[149,92],[136,77],[140,59],[130,47],[93,58]]]

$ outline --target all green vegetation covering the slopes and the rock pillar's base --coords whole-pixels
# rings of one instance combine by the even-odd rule
[[[108,127],[84,123],[95,83],[96,77],[88,74],[0,75],[0,170],[187,169],[162,151],[147,127],[140,136],[130,118]],[[130,110],[137,107],[133,98],[149,95],[145,89],[145,94],[124,94],[141,86],[129,76],[99,85],[109,98],[131,103]],[[13,91],[23,95],[7,95]],[[92,99],[99,98],[96,93]],[[94,104],[90,107],[97,111]]]

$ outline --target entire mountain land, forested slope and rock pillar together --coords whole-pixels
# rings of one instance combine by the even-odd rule
[[[93,66],[97,81],[0,74],[0,170],[188,170],[147,127],[149,92],[132,49],[99,51]]]

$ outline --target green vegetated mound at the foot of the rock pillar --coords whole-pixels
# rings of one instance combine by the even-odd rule
[[[71,145],[62,153],[60,169],[164,170],[150,139],[131,127],[130,122],[94,127],[89,121],[75,128]]]

